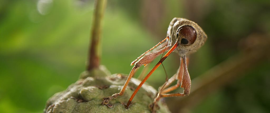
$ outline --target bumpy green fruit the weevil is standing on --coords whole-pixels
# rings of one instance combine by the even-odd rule
[[[106,72],[108,71],[103,67],[90,73],[82,73],[76,83],[49,98],[44,112],[150,112],[149,104],[153,102],[157,91],[147,84],[139,90],[129,109],[124,106],[140,83],[135,78],[131,79],[122,96],[113,99],[108,105],[102,105],[103,98],[119,92],[127,78],[123,74],[109,75]],[[158,102],[158,108],[157,112],[170,112],[161,102]]]

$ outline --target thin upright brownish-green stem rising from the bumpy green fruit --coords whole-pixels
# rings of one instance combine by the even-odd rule
[[[93,68],[99,67],[99,61],[101,57],[101,22],[103,19],[104,10],[106,7],[107,0],[96,0],[95,2],[95,11],[93,15],[92,22],[92,32],[91,32],[91,46],[89,46],[88,52],[88,62],[87,62],[87,71],[92,70]]]

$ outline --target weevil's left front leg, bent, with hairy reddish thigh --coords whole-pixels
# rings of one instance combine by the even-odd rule
[[[129,73],[129,76],[127,77],[127,80],[126,80],[123,88],[121,89],[121,91],[119,93],[113,94],[110,97],[104,98],[104,101],[102,102],[102,104],[107,105],[109,103],[109,101],[112,100],[113,98],[117,98],[118,96],[123,95],[124,92],[125,92],[125,90],[126,90],[127,85],[129,84],[129,81],[130,81],[131,77],[133,77],[133,75],[134,75],[134,71],[136,69],[138,69],[139,67],[141,67],[142,65],[146,66],[151,61],[153,61],[157,56],[159,56],[160,54],[162,54],[164,51],[167,51],[168,50],[169,47],[166,47],[166,43],[165,44],[164,43],[161,44],[165,40],[169,40],[169,37],[167,36],[164,40],[162,40],[161,42],[159,42],[156,46],[152,47],[148,51],[144,52],[141,56],[139,56],[136,60],[134,60],[131,63],[131,65],[135,64],[135,66],[131,69],[131,71]],[[153,49],[159,49],[159,50],[153,50]],[[152,53],[148,53],[151,50],[153,50],[153,52]],[[146,53],[148,53],[148,54],[146,54]],[[109,106],[109,107],[111,107],[111,106]]]

